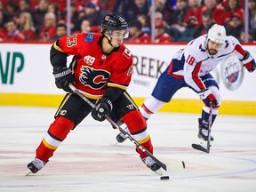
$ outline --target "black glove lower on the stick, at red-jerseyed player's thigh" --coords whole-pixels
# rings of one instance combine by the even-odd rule
[[[97,102],[96,107],[92,108],[92,117],[97,121],[104,121],[106,115],[111,112],[113,106],[110,100],[101,99]]]

